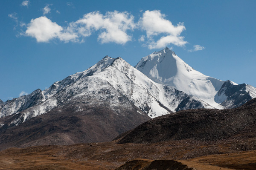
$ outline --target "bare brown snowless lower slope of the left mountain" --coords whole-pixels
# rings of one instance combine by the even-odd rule
[[[119,112],[113,111],[108,104],[83,105],[80,111],[76,108],[78,105],[70,103],[15,127],[1,127],[0,150],[8,147],[111,141],[115,136],[149,119],[147,115],[139,114],[139,109],[132,105],[129,109],[119,107]]]

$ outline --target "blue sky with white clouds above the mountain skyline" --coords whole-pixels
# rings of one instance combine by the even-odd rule
[[[2,0],[0,99],[48,88],[105,55],[165,46],[194,69],[256,86],[255,0]]]

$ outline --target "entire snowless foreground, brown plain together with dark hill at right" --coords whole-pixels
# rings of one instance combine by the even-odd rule
[[[255,170],[256,99],[141,124],[114,141],[9,148],[0,170]]]

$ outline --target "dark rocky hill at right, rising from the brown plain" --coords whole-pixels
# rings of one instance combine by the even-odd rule
[[[218,141],[256,135],[256,99],[236,109],[190,109],[151,119],[119,143],[155,143],[192,139]]]

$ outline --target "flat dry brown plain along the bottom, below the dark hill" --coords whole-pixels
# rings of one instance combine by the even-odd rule
[[[0,170],[255,170],[256,150],[234,153],[227,146],[216,146],[223,152],[226,149],[226,153],[201,157],[195,154],[195,150],[205,151],[207,147],[183,141],[9,148],[0,152]],[[194,157],[185,160],[188,154]]]

